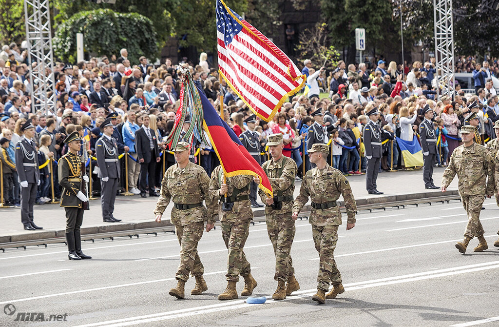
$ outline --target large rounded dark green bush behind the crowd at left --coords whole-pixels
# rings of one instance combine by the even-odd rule
[[[95,55],[119,53],[128,49],[131,62],[141,55],[158,55],[157,35],[152,21],[138,13],[119,13],[110,9],[82,11],[59,25],[52,41],[60,59],[76,61],[76,33],[83,33],[84,49]]]

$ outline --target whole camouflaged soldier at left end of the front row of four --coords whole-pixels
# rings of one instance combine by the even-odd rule
[[[170,295],[184,298],[184,286],[189,273],[196,277],[196,286],[191,290],[191,295],[200,295],[208,289],[203,278],[204,267],[198,254],[198,242],[203,235],[205,221],[207,232],[214,227],[217,208],[208,196],[210,177],[203,167],[189,161],[189,143],[178,142],[174,152],[177,164],[165,172],[154,214],[156,221],[161,222],[166,206],[170,200],[174,202],[170,221],[175,225],[180,242],[180,265],[175,274],[177,286],[170,289]]]

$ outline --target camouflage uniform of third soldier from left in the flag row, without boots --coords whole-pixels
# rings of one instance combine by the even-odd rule
[[[274,195],[274,204],[265,206],[265,221],[267,232],[275,254],[274,279],[287,280],[294,274],[293,260],[291,259],[291,244],[293,243],[295,226],[291,218],[293,206],[294,177],[298,167],[293,159],[282,155],[277,162],[272,159],[265,161],[262,165],[268,176]],[[266,193],[261,189],[258,191],[263,203]],[[274,209],[278,201],[277,196],[284,197],[281,201],[282,208]]]

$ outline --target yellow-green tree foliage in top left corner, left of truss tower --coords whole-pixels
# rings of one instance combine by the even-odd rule
[[[22,0],[0,0],[0,43],[20,44],[26,37]]]

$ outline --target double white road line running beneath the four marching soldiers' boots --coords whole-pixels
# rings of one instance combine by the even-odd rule
[[[452,268],[446,268],[446,269],[440,269],[440,270],[424,271],[424,272],[412,273],[412,274],[407,274],[407,275],[366,280],[366,281],[361,281],[361,282],[344,284],[343,286],[345,286],[345,290],[356,290],[356,289],[362,289],[362,288],[398,284],[398,283],[404,283],[404,282],[410,282],[410,281],[438,278],[438,277],[444,277],[444,276],[449,276],[449,275],[462,274],[462,273],[468,273],[468,272],[476,272],[476,271],[496,269],[496,268],[499,268],[499,261],[491,261],[491,262],[470,264],[470,265],[458,266],[458,267],[452,267]],[[297,295],[287,296],[284,299],[284,301],[296,299],[296,298],[300,298],[300,297],[311,296],[316,291],[317,291],[316,289],[307,289],[307,290],[297,291],[296,292]],[[268,295],[266,297],[271,298],[271,295]],[[271,301],[268,304],[277,304],[278,305],[279,302],[282,302],[282,301]],[[197,306],[197,307],[191,307],[191,308],[180,309],[180,310],[159,312],[159,313],[153,313],[153,314],[147,314],[147,315],[141,315],[141,316],[135,316],[135,317],[128,317],[128,318],[122,318],[122,319],[115,319],[115,320],[109,320],[109,321],[83,324],[83,325],[78,325],[75,327],[127,326],[127,325],[147,323],[147,322],[152,322],[152,321],[181,318],[181,317],[198,315],[198,314],[206,314],[206,313],[223,311],[223,310],[239,309],[239,308],[249,307],[250,305],[251,304],[245,304],[244,300],[234,300],[234,301],[227,301],[227,302],[222,302],[222,303],[217,303],[217,304],[212,304],[212,305]]]

